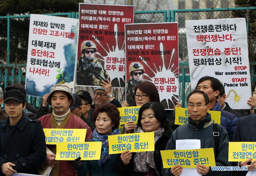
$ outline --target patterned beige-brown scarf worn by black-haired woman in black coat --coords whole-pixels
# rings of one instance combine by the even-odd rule
[[[144,132],[141,127],[138,127],[138,132]],[[163,134],[164,128],[160,127],[154,131],[154,144]],[[134,156],[134,171],[148,172],[150,168],[156,169],[156,163],[154,161],[154,151],[150,152],[137,152]]]

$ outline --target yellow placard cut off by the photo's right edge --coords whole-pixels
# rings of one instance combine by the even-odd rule
[[[228,161],[256,160],[256,142],[229,142]]]

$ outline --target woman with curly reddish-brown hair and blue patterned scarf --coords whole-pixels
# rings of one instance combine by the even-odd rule
[[[101,141],[102,153],[100,160],[74,160],[74,167],[79,175],[116,175],[119,172],[116,169],[120,154],[109,154],[108,136],[120,134],[118,129],[120,116],[116,106],[111,103],[97,105],[93,111],[96,128],[92,133],[92,139],[88,142]]]

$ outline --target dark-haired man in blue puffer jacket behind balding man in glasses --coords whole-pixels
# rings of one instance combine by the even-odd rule
[[[210,110],[221,112],[220,125],[228,131],[229,139],[232,141],[238,118],[236,115],[220,108],[220,104],[217,101],[222,91],[220,81],[211,76],[204,76],[198,80],[196,88],[208,95],[211,104]]]

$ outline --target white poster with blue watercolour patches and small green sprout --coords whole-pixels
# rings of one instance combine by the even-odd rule
[[[43,97],[52,86],[75,86],[79,20],[30,15],[26,94]]]

